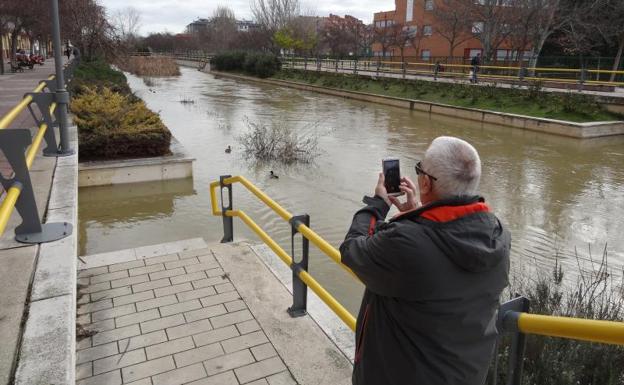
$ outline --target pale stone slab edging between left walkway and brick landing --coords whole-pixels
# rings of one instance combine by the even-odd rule
[[[76,127],[70,144],[78,150]],[[58,158],[46,222],[73,225],[69,237],[39,246],[15,384],[75,383],[78,155]]]

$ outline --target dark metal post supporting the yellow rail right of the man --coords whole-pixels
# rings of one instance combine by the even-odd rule
[[[518,297],[505,302],[498,310],[496,327],[499,331],[513,333],[511,351],[509,352],[509,366],[507,367],[507,385],[520,385],[522,383],[526,335],[518,330],[518,317],[520,313],[528,312],[529,307],[530,303],[527,298]]]

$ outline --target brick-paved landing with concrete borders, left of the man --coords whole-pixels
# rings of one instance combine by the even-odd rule
[[[253,276],[235,281],[249,272],[233,256]],[[77,322],[97,333],[77,343],[79,385],[350,383],[348,360],[311,319],[264,314],[290,295],[247,245],[195,239],[81,259]],[[300,344],[309,357],[288,351]]]

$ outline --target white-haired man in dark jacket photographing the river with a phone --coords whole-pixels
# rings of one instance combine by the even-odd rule
[[[353,384],[481,385],[511,236],[477,195],[481,161],[469,143],[435,139],[416,174],[420,203],[409,178],[401,203],[380,174],[340,246],[366,285]],[[401,212],[384,222],[391,204]]]

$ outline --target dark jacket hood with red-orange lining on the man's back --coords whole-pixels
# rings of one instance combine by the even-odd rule
[[[489,271],[509,257],[511,234],[479,196],[440,200],[402,218],[428,222],[427,236],[464,270]]]

